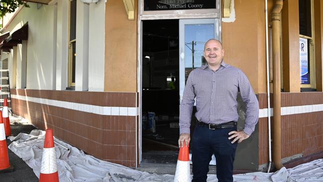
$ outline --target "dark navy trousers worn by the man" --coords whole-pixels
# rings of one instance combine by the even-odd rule
[[[216,158],[219,182],[233,182],[233,162],[237,142],[231,143],[229,132],[237,131],[237,126],[211,130],[197,126],[192,137],[192,182],[206,182],[212,155]]]

